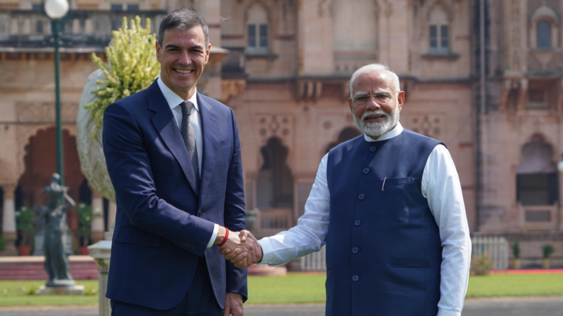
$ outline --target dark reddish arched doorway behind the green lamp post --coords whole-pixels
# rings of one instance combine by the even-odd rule
[[[78,203],[81,201],[80,191],[84,175],[81,172],[78,151],[76,151],[76,138],[71,136],[67,130],[63,130],[63,148],[64,185],[69,187],[69,196]],[[41,129],[30,137],[28,145],[25,146],[23,158],[25,171],[18,181],[15,194],[16,208],[47,203],[47,196],[42,194],[41,190],[50,184],[51,175],[57,170],[55,149],[54,127]],[[74,209],[70,209],[67,216],[70,230],[76,231],[79,223]]]

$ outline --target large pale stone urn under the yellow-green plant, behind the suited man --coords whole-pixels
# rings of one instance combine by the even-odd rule
[[[102,128],[98,129],[96,137],[91,140],[93,121],[91,111],[84,109],[84,105],[93,101],[96,95],[91,92],[100,86],[96,80],[105,77],[101,70],[94,71],[86,82],[80,99],[78,115],[76,116],[76,149],[80,158],[82,173],[96,191],[110,201],[115,201],[115,191],[111,184],[106,158],[103,156]]]

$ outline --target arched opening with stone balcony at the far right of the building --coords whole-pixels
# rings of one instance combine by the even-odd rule
[[[521,147],[516,199],[522,205],[552,205],[559,200],[554,153],[542,134],[533,134]]]

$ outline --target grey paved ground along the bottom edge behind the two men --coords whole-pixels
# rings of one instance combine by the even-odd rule
[[[324,305],[246,306],[245,316],[323,316]],[[97,308],[0,308],[2,316],[97,316]],[[563,297],[465,301],[463,316],[563,316]],[[377,315],[366,315],[377,316]],[[398,315],[400,316],[400,315]]]

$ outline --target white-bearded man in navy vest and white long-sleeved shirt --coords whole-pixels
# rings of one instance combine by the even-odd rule
[[[350,93],[364,134],[322,158],[305,214],[260,240],[258,261],[284,264],[326,244],[327,316],[461,315],[471,241],[450,153],[403,129],[404,91],[387,66],[358,69]],[[246,252],[222,253],[246,266]]]

